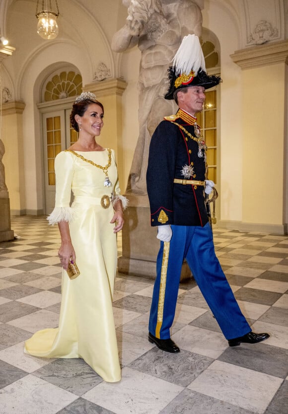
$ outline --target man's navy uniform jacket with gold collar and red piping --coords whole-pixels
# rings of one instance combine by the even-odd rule
[[[204,187],[174,184],[174,178],[184,179],[181,170],[193,166],[187,180],[205,180],[206,157],[198,156],[199,146],[176,122],[194,137],[195,118],[179,109],[176,115],[165,117],[152,135],[147,168],[147,193],[150,203],[151,225],[164,224],[205,226],[208,215]]]

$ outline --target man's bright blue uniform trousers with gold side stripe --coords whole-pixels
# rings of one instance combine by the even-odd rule
[[[184,258],[226,339],[251,331],[215,254],[210,224],[171,225],[170,242],[160,242],[157,276],[149,319],[149,332],[160,339],[170,338],[180,274]],[[193,304],[191,304],[193,306]]]

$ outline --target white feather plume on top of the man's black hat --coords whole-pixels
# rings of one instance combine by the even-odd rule
[[[196,34],[188,34],[183,37],[172,63],[175,67],[176,76],[183,73],[188,75],[191,71],[196,76],[200,68],[206,72],[203,51],[199,37]]]

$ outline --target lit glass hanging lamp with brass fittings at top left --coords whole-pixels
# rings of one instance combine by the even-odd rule
[[[38,11],[39,0],[37,0],[36,17],[38,19],[37,33],[45,40],[55,39],[59,33],[57,17],[59,16],[59,8],[57,0],[54,0],[55,8],[52,8],[52,0],[42,0],[42,10]]]

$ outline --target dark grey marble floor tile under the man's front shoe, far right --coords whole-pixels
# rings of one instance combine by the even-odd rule
[[[288,375],[288,350],[268,345],[265,341],[228,347],[218,360],[274,377],[286,378]]]

